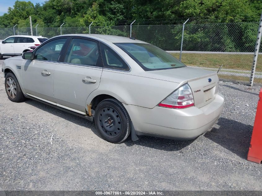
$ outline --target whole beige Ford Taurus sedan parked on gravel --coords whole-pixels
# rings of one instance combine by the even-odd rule
[[[53,37],[2,69],[11,101],[31,98],[94,121],[113,143],[130,133],[132,140],[193,139],[215,124],[224,104],[216,72],[127,37]]]

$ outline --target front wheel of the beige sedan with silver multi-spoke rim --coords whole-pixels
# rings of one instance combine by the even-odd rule
[[[8,99],[12,102],[24,101],[24,94],[20,88],[20,85],[13,73],[7,73],[5,78],[5,88]]]

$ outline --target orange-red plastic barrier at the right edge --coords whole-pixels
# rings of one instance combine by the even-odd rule
[[[262,161],[262,89],[260,89],[259,101],[257,103],[255,123],[247,160],[255,163],[261,163]]]

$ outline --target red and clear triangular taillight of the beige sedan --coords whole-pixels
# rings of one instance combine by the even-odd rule
[[[192,91],[188,84],[180,86],[171,95],[158,104],[161,107],[168,108],[186,108],[194,106]]]

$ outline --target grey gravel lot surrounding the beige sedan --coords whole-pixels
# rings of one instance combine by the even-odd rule
[[[1,74],[0,190],[262,190],[262,164],[246,160],[260,88],[221,82],[224,111],[195,140],[111,144],[85,119],[9,101]]]

